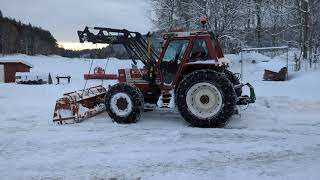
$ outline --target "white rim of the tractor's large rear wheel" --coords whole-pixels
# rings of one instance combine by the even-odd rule
[[[191,113],[200,119],[214,117],[223,105],[221,91],[210,83],[193,85],[188,90],[186,101]]]

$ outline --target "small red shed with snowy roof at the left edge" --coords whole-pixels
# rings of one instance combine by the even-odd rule
[[[30,72],[32,65],[21,60],[0,59],[0,83],[16,82],[16,72]]]

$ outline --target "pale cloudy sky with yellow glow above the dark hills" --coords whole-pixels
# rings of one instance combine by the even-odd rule
[[[147,0],[0,0],[4,16],[49,30],[59,42],[78,42],[85,26],[151,30]]]

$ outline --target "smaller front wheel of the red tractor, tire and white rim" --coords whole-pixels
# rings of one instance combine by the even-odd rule
[[[109,116],[119,124],[136,123],[144,110],[142,93],[126,83],[118,83],[108,90],[105,105]]]

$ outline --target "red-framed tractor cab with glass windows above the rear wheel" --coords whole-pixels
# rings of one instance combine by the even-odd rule
[[[174,88],[181,75],[201,69],[203,64],[207,69],[221,69],[223,53],[213,33],[172,32],[163,38],[163,52],[157,62],[163,88]]]

